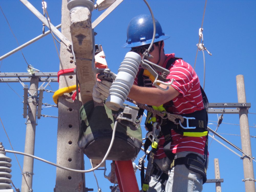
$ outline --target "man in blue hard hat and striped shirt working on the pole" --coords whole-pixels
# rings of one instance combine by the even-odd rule
[[[155,24],[156,36],[149,50],[153,58],[148,60],[168,69],[170,73],[167,79],[174,79],[174,82],[167,91],[152,87],[140,67],[128,97],[138,103],[156,106],[155,109],[163,105],[167,112],[184,116],[184,123],[175,124],[156,117],[162,124],[148,191],[202,191],[208,156],[207,112],[203,102],[205,94],[193,68],[174,54],[164,53],[163,40],[169,36],[163,33],[156,19]],[[127,27],[127,40],[123,47],[131,48],[131,51],[142,56],[152,37],[152,17],[138,15]],[[97,85],[95,87],[97,94],[94,94],[94,100],[101,94],[106,96],[106,90],[101,91]],[[166,89],[167,86],[161,84],[160,87]],[[152,131],[151,118],[151,113],[148,113],[145,124],[149,131]],[[144,186],[143,190],[146,191],[147,187]]]

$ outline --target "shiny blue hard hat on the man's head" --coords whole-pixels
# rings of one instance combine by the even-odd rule
[[[156,35],[154,42],[168,39],[170,36],[165,35],[160,23],[155,19]],[[134,17],[127,27],[127,40],[123,48],[138,47],[150,44],[153,38],[154,28],[153,19],[150,15],[138,15]]]

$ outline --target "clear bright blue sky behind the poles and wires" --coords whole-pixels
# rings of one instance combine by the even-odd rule
[[[31,0],[41,13],[42,5],[40,0]],[[61,1],[52,0],[47,2],[47,10],[52,24],[55,26],[61,23]],[[165,40],[165,52],[175,53],[186,62],[194,66],[196,57],[196,44],[198,43],[198,30],[201,27],[202,16],[205,6],[203,0],[192,1],[151,1],[149,0],[155,18],[161,23],[165,34],[171,37]],[[20,1],[0,1],[0,6],[8,19],[13,33],[20,45],[33,39],[42,33],[42,23],[34,16]],[[94,10],[92,21],[103,11]],[[136,15],[149,10],[143,1],[122,2],[108,17],[95,27],[95,43],[101,44],[106,55],[109,68],[117,73],[118,67],[129,49],[121,48],[126,41],[126,28],[129,21]],[[17,42],[12,35],[8,24],[0,12],[0,56],[16,48]],[[255,45],[256,45],[256,1],[238,0],[215,0],[207,1],[203,35],[205,47],[212,53],[212,56],[205,52],[206,75],[205,92],[210,103],[236,103],[237,89],[236,76],[242,74],[245,81],[247,102],[251,103],[249,109],[250,135],[256,136],[256,108],[255,108]],[[48,30],[46,28],[46,30]],[[57,45],[58,48],[58,45]],[[48,35],[37,42],[24,48],[23,54],[30,65],[42,72],[58,72],[59,59],[51,35]],[[8,58],[0,61],[1,72],[26,72],[27,64],[21,54],[16,52]],[[198,52],[196,72],[202,84],[204,73],[202,51]],[[3,121],[10,141],[16,151],[24,151],[26,125],[23,118],[23,87],[20,83],[0,83],[0,118]],[[39,84],[40,85],[40,84]],[[51,83],[48,89],[57,90],[58,84]],[[53,93],[44,92],[44,103],[54,104]],[[42,114],[58,115],[58,109],[43,108]],[[216,124],[218,116],[209,115],[209,123]],[[57,146],[57,119],[41,118],[36,127],[35,155],[45,158],[48,161],[56,162]],[[209,125],[216,129],[216,125]],[[238,114],[224,114],[222,124],[218,129],[223,137],[241,148],[240,128]],[[142,127],[143,129],[143,127]],[[144,131],[144,130],[143,130]],[[144,131],[143,134],[146,132]],[[232,134],[232,135],[231,135]],[[11,150],[7,136],[0,126],[0,142],[6,149]],[[214,158],[219,159],[220,177],[224,179],[221,183],[223,191],[244,191],[243,164],[240,157],[233,154],[225,147],[211,142],[209,139],[209,167],[208,179],[213,179]],[[251,138],[252,155],[256,152],[256,138]],[[236,151],[241,154],[240,152]],[[21,188],[21,171],[13,154],[6,154],[12,158],[12,180],[16,187]],[[141,157],[140,153],[138,157]],[[20,165],[23,165],[23,156],[17,155]],[[135,161],[138,163],[138,161]],[[108,162],[110,164],[110,162]],[[253,162],[254,171],[256,169]],[[88,158],[85,157],[85,168],[89,169]],[[107,173],[110,169],[107,170]],[[33,190],[53,191],[55,187],[56,167],[34,161]],[[97,170],[99,186],[102,191],[110,191],[111,183],[103,177],[103,171]],[[139,171],[137,178],[140,180]],[[140,185],[140,184],[139,184]],[[97,191],[97,184],[92,173],[86,174],[86,187],[94,188]],[[204,184],[203,191],[215,191],[215,184]]]

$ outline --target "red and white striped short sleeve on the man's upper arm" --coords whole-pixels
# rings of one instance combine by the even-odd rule
[[[171,86],[181,93],[179,97],[184,97],[195,84],[199,83],[194,69],[181,59],[176,60],[169,70],[167,79],[174,79]]]

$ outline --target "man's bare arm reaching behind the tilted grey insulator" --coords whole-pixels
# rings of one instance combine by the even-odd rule
[[[161,84],[160,87],[165,89],[167,86]],[[179,94],[180,93],[172,86],[169,86],[167,91],[162,91],[154,87],[139,87],[133,85],[128,97],[141,104],[160,106],[174,99]]]

